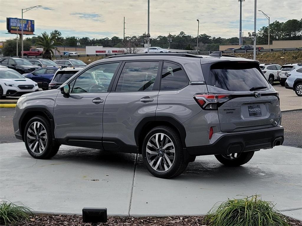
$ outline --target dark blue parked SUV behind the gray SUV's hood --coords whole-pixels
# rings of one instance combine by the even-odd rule
[[[40,67],[31,73],[23,74],[23,76],[38,83],[39,88],[47,90],[48,84],[58,69],[58,67]]]

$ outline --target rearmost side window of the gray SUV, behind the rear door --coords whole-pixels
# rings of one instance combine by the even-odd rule
[[[188,85],[188,78],[178,64],[164,62],[160,90],[177,90]]]

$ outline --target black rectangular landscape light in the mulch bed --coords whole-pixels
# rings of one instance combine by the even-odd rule
[[[106,223],[107,208],[87,208],[82,209],[84,223]]]

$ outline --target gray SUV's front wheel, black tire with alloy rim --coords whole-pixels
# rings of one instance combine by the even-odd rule
[[[39,136],[36,137],[35,134]],[[23,136],[28,153],[35,159],[50,159],[59,150],[60,145],[53,139],[54,133],[50,122],[44,117],[31,118],[25,126]]]

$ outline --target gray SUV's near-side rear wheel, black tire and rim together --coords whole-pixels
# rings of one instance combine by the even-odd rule
[[[156,137],[158,138],[159,145],[156,143]],[[171,143],[172,145],[167,146],[167,144]],[[159,148],[162,147],[162,149],[156,149],[157,146]],[[155,127],[149,131],[143,141],[142,155],[148,171],[160,178],[176,177],[182,174],[188,166],[180,136],[174,129],[168,126]]]

